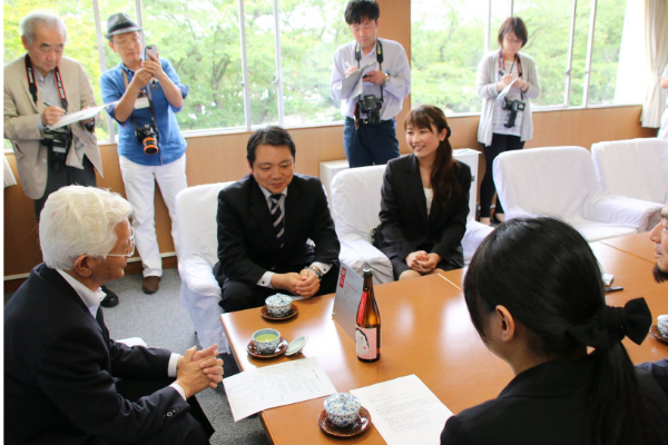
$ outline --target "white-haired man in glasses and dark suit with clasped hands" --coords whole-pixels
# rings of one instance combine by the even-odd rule
[[[45,263],[4,307],[7,443],[208,444],[213,428],[193,396],[222,380],[216,345],[185,356],[128,347],[105,325],[99,288],[122,277],[135,250],[130,210],[94,187],[47,199]]]

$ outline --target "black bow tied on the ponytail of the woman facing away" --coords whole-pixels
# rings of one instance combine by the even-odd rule
[[[615,342],[629,337],[639,345],[651,326],[651,313],[645,298],[633,298],[623,307],[603,305],[587,322],[566,332],[579,343],[600,350],[609,349]]]

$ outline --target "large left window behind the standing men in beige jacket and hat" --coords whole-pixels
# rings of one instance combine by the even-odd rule
[[[84,65],[101,103],[100,73],[120,62],[102,37],[107,18],[126,12],[190,87],[177,115],[181,130],[335,122],[342,117],[330,96],[332,58],[352,39],[344,7],[340,0],[6,0],[4,62],[24,52],[19,20],[51,10],[68,29],[66,56]],[[98,137],[114,139],[116,125],[102,117]]]

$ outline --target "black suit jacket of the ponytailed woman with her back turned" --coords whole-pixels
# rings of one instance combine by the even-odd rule
[[[666,432],[668,399],[646,370],[636,374],[650,422]],[[587,400],[597,378],[592,357],[534,366],[518,374],[499,397],[450,417],[441,444],[590,444]],[[662,438],[668,443],[667,434]]]

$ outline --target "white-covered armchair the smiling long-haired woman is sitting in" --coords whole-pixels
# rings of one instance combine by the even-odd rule
[[[340,258],[357,274],[364,267],[374,269],[375,283],[394,280],[392,263],[381,250],[371,244],[371,229],[381,220],[381,188],[385,166],[372,166],[343,170],[332,179],[332,215],[336,234],[341,241]],[[471,185],[475,192],[475,184]],[[473,253],[493,229],[474,220],[475,209],[469,211],[466,233],[462,239],[464,261],[468,264]]]

